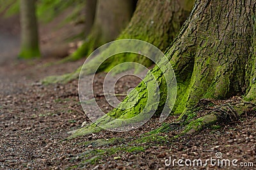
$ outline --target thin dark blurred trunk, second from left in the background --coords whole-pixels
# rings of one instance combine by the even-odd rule
[[[88,36],[92,29],[92,25],[95,18],[97,0],[86,0],[85,1],[85,29],[84,35]]]

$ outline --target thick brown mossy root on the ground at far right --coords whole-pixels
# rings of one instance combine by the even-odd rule
[[[217,123],[228,123],[239,120],[239,117],[243,113],[252,111],[253,106],[255,106],[253,103],[246,102],[238,103],[234,106],[225,104],[221,106],[221,108],[212,110],[209,115],[191,121],[182,133],[193,134],[202,131],[205,127],[210,127]]]

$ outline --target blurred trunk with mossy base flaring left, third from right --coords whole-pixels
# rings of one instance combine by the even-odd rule
[[[134,0],[97,0],[94,23],[84,44],[66,60],[85,57],[95,48],[117,38],[131,20]]]

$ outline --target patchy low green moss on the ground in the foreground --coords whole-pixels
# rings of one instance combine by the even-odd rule
[[[159,134],[142,134],[138,139],[110,138],[86,141],[78,145],[83,145],[88,150],[73,157],[70,161],[77,162],[78,160],[79,163],[69,167],[69,169],[83,168],[88,164],[99,164],[106,157],[112,157],[113,160],[122,159],[122,155],[125,153],[138,154],[145,152],[150,146],[162,146],[170,143],[170,141],[170,137]]]

